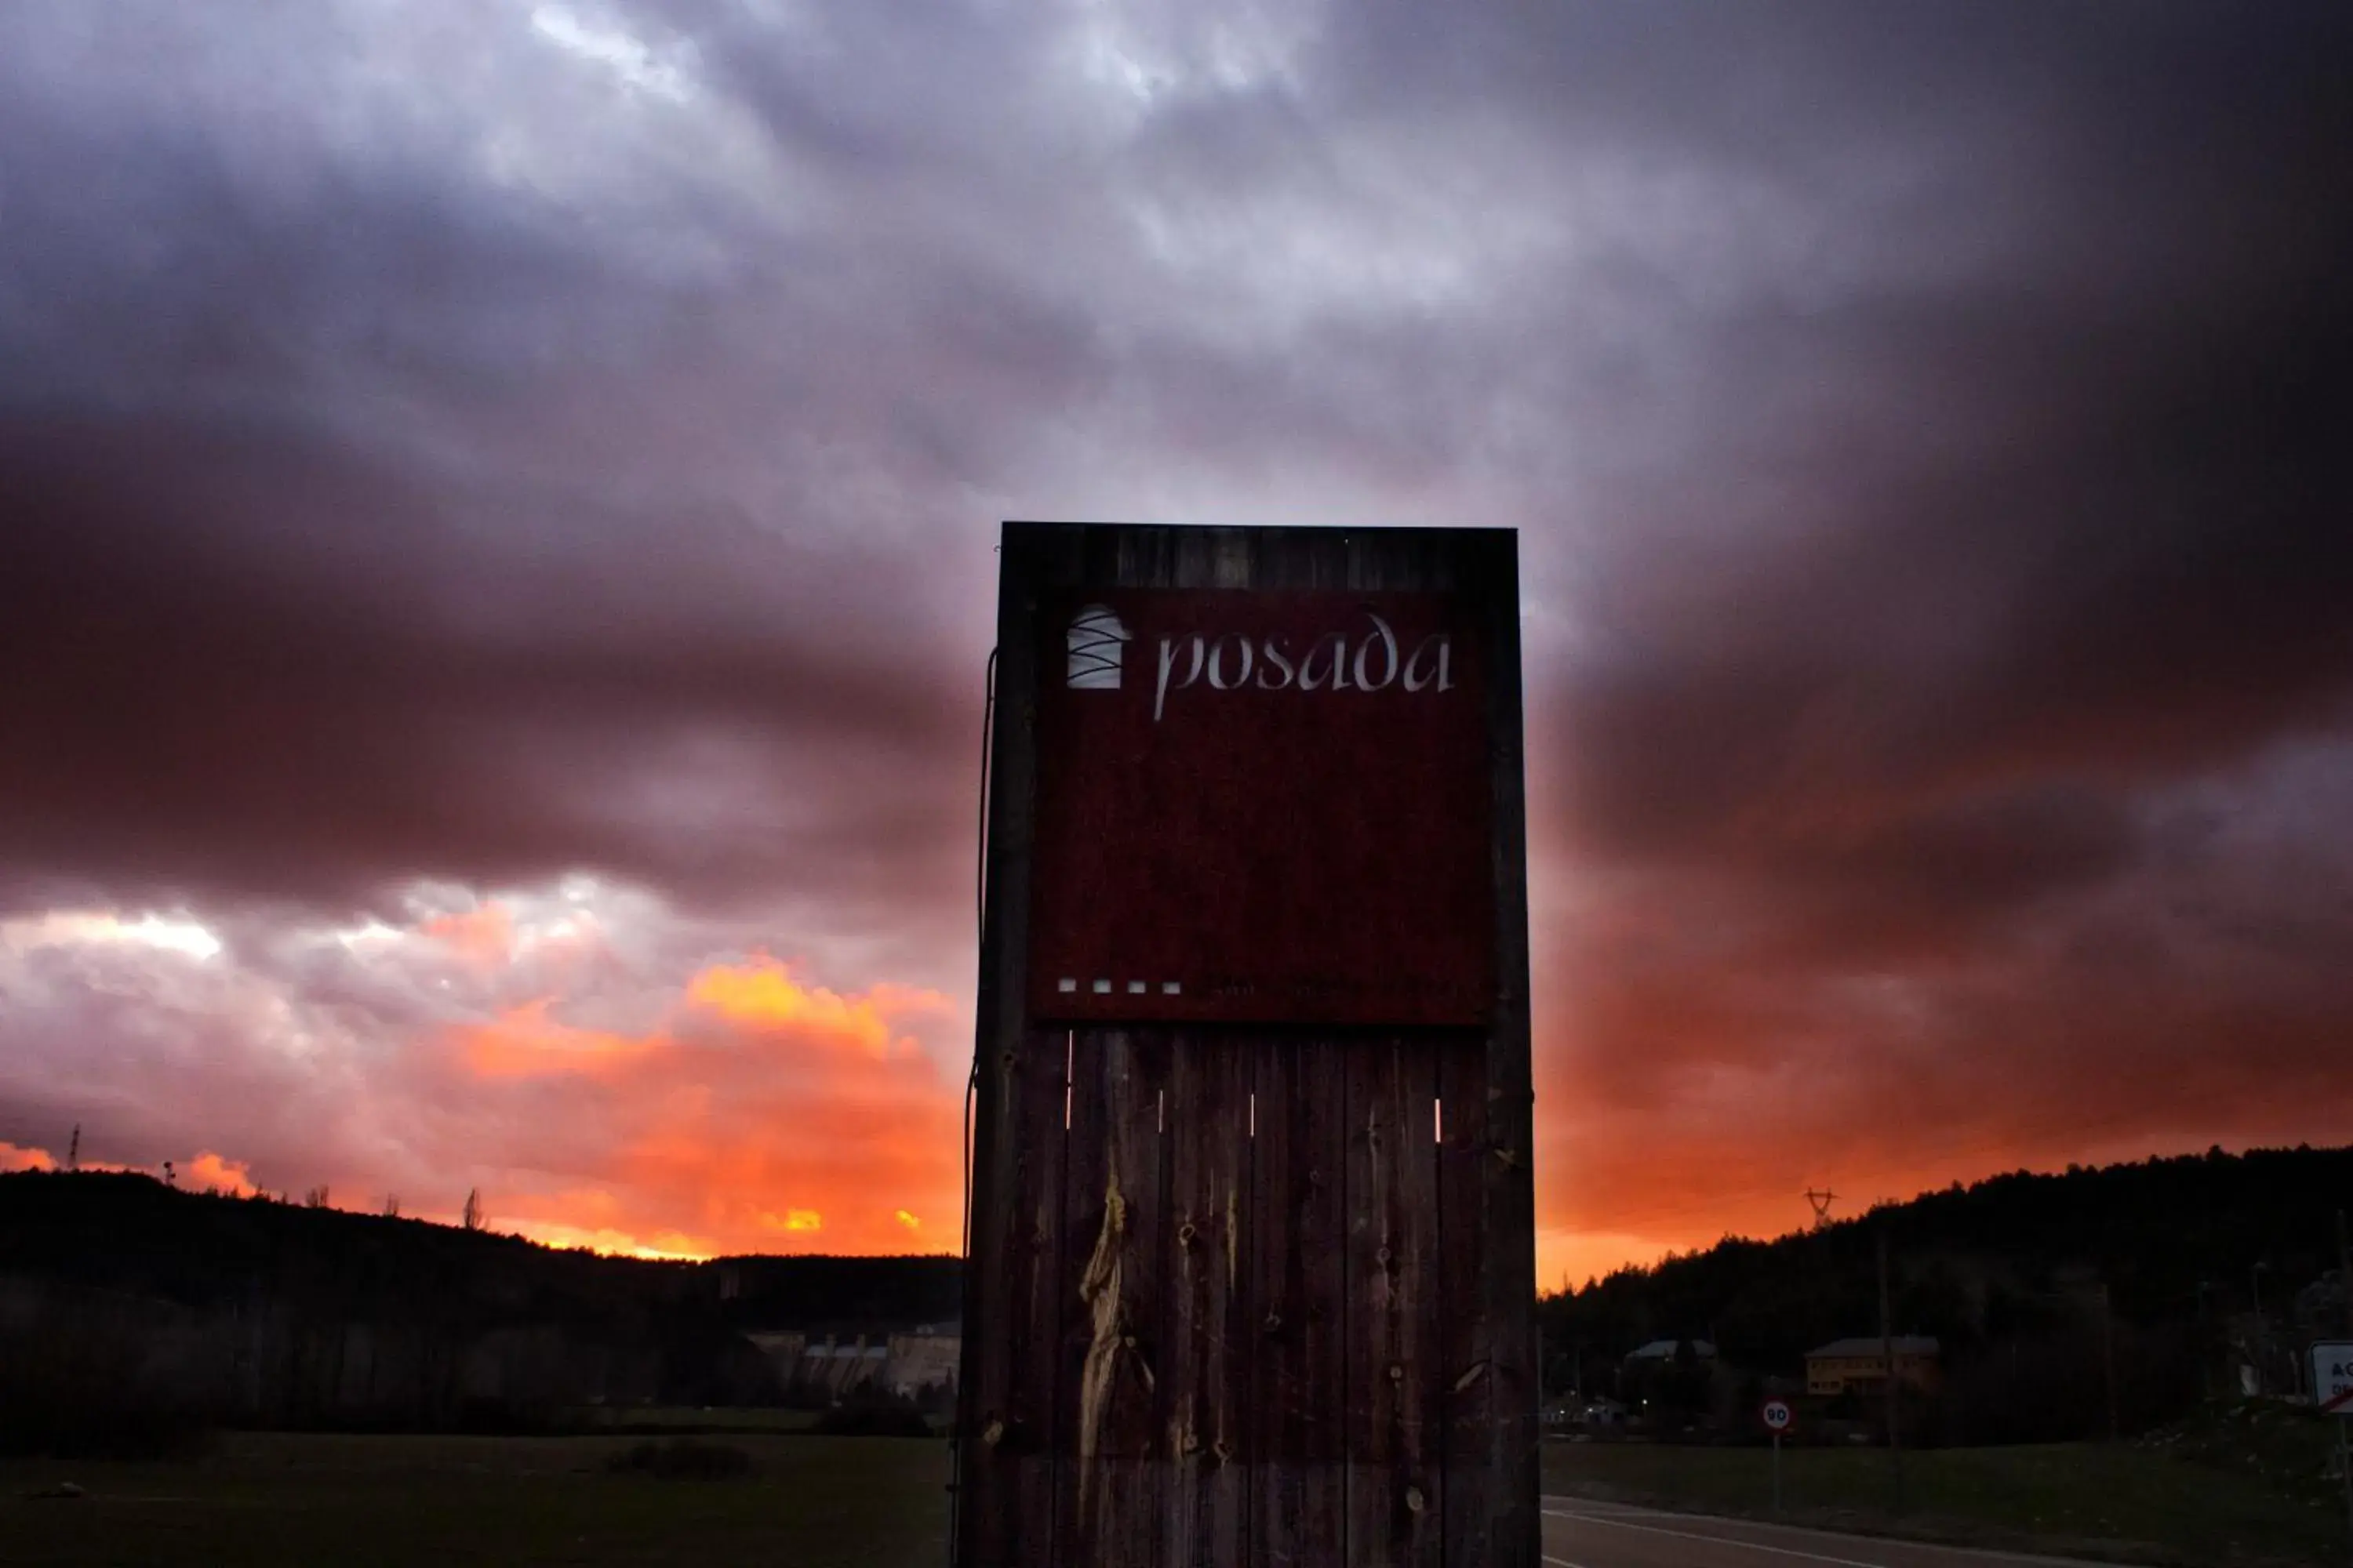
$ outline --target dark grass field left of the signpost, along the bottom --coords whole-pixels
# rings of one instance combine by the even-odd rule
[[[0,1465],[9,1568],[939,1568],[948,1446],[725,1436],[739,1481],[614,1476],[612,1436],[228,1434],[200,1460]],[[85,1497],[33,1500],[73,1481]]]

